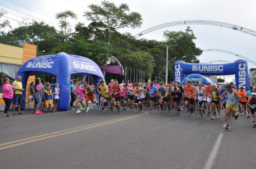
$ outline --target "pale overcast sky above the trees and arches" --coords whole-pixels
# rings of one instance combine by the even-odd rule
[[[141,28],[119,30],[120,32],[130,32],[132,35],[156,25],[181,20],[220,21],[256,30],[256,1],[254,0],[112,0],[111,2],[117,5],[126,3],[131,11],[139,12],[142,15],[143,25]],[[70,20],[71,25],[75,26],[77,22],[84,22],[85,25],[88,25],[89,21],[82,17],[83,12],[89,11],[89,4],[99,3],[100,0],[0,0],[0,7],[9,12],[8,17],[10,18],[17,19],[17,16],[34,18],[39,22],[43,20],[46,24],[57,28],[58,21],[54,19],[57,12],[74,11],[78,15],[78,20]],[[18,25],[15,21],[11,23],[12,27]],[[212,25],[180,25],[156,30],[141,36],[141,38],[164,40],[164,31],[184,31],[187,26],[194,31],[197,38],[195,43],[200,49],[227,50],[256,61],[254,52],[256,37],[228,28]],[[201,63],[205,63],[213,60],[235,61],[240,58],[228,53],[204,52],[198,59]],[[256,65],[248,62],[248,67],[249,69],[256,68]],[[232,81],[234,78],[234,75],[225,76],[226,81]]]

